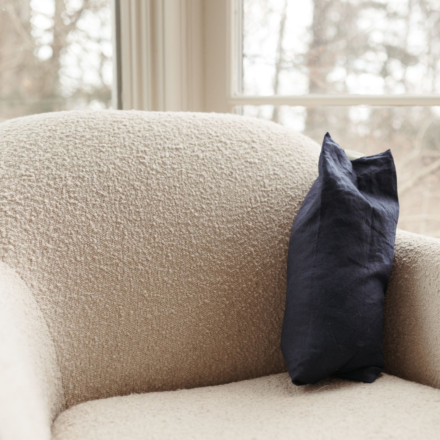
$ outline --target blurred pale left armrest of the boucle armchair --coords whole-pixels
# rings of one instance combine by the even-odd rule
[[[0,438],[50,440],[63,405],[44,316],[22,279],[0,263]]]

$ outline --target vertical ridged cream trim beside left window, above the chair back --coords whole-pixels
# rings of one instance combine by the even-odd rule
[[[120,0],[123,109],[204,110],[202,28],[202,0]]]

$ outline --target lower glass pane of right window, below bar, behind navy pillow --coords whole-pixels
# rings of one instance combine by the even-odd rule
[[[330,132],[342,148],[366,155],[391,148],[400,198],[398,227],[440,238],[440,107],[242,106],[319,145]]]

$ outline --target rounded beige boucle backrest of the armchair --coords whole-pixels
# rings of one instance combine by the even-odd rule
[[[219,114],[0,125],[0,257],[48,323],[67,406],[283,371],[290,227],[319,147]]]

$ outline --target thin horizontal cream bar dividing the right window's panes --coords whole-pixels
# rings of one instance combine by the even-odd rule
[[[231,105],[275,106],[440,106],[440,95],[229,96]]]

